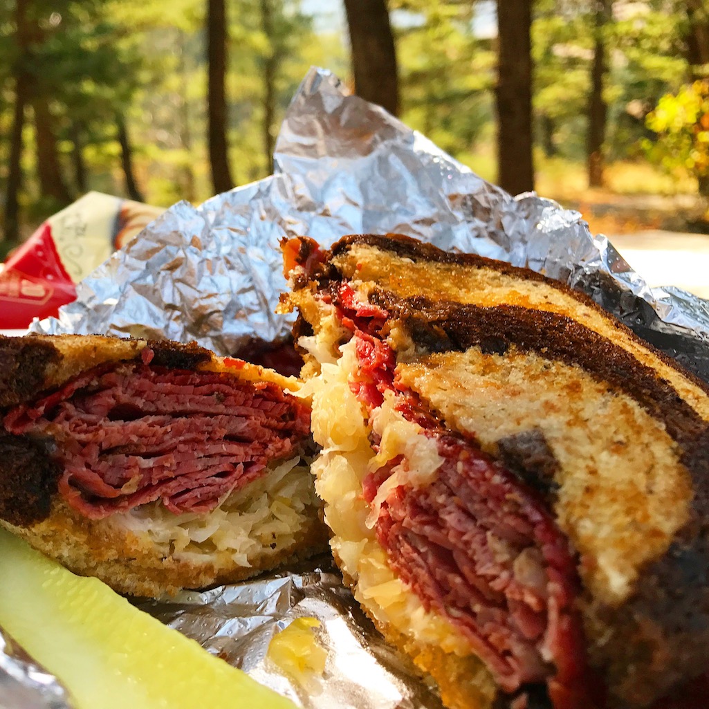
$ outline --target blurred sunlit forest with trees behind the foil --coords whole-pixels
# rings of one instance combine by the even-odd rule
[[[6,0],[0,257],[91,189],[269,174],[311,65],[596,230],[709,231],[709,0]]]

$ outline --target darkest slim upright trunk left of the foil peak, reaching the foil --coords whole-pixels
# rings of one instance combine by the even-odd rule
[[[226,10],[225,0],[207,0],[207,141],[212,184],[216,193],[230,190],[234,183],[229,170],[226,130]]]

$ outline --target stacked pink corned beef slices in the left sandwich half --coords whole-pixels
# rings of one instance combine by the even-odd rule
[[[174,513],[211,510],[296,454],[310,419],[275,384],[119,364],[13,408],[4,425],[43,440],[63,469],[62,496],[99,519],[159,499]]]

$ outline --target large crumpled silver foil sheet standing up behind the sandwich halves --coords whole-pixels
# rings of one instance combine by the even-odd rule
[[[485,182],[323,69],[311,69],[291,102],[272,176],[198,208],[177,203],[84,279],[58,318],[31,329],[196,340],[235,354],[290,332],[292,316],[274,314],[286,288],[281,238],[329,246],[386,232],[564,281],[709,379],[708,301],[650,289],[581,214]]]

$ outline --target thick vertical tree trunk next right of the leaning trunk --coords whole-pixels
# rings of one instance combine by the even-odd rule
[[[534,189],[532,0],[498,0],[497,26],[498,180],[510,194],[519,194]]]

